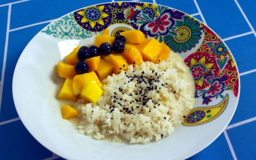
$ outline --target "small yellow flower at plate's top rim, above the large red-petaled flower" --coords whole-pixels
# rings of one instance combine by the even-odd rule
[[[156,4],[148,4],[148,3],[144,3],[143,6],[135,6],[136,8],[138,8],[139,10],[143,10],[144,14],[147,14],[147,16],[149,16],[150,18],[154,19],[154,17],[159,16],[159,12],[157,10],[157,5]]]

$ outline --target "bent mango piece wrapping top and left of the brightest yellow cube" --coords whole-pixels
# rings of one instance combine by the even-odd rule
[[[72,84],[74,95],[79,95],[82,92],[86,80],[91,80],[94,83],[96,83],[99,87],[102,87],[102,83],[98,79],[94,71],[84,74],[78,74],[74,77]]]

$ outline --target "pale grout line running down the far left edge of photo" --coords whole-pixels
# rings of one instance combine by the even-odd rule
[[[2,65],[2,75],[1,75],[1,85],[0,85],[0,113],[1,113],[1,106],[2,106],[4,74],[5,74],[5,67],[6,67],[8,42],[9,42],[10,17],[11,17],[11,4],[8,7],[6,37],[5,37],[5,46],[4,46],[4,57],[3,57],[3,65]]]

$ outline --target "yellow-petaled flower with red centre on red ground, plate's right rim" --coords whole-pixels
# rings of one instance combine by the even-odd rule
[[[203,86],[203,82],[204,82],[203,71],[210,70],[213,67],[213,65],[214,63],[208,63],[208,64],[205,63],[205,56],[202,56],[198,61],[196,61],[196,59],[191,57],[190,70],[198,86],[200,87]]]

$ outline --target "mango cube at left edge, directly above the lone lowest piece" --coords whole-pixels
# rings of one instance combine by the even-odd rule
[[[68,99],[68,100],[76,100],[77,96],[73,94],[73,89],[72,89],[72,84],[73,80],[67,78],[60,88],[60,92],[58,95],[59,99]]]

